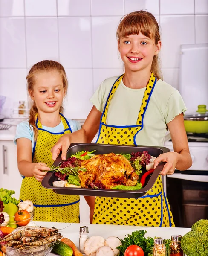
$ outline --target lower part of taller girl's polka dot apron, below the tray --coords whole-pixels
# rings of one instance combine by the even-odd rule
[[[166,205],[165,194],[159,185],[162,185],[160,176],[153,188],[138,199],[97,197],[92,223],[170,227],[170,205],[168,201]],[[171,212],[170,220],[171,226],[174,227]]]

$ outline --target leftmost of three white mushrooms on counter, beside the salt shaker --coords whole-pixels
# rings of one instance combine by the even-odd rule
[[[96,256],[96,251],[105,245],[105,239],[102,236],[91,236],[84,243],[84,253],[86,256]]]

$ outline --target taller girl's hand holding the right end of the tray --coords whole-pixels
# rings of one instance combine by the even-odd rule
[[[179,154],[177,152],[168,152],[168,153],[160,154],[159,157],[157,157],[154,160],[154,169],[158,166],[160,162],[166,162],[160,174],[164,176],[166,174],[171,175],[175,172],[175,167],[178,160],[179,160]]]

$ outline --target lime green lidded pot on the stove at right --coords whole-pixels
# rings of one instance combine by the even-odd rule
[[[184,116],[184,125],[187,133],[208,133],[208,113],[206,105],[199,105],[196,113]]]

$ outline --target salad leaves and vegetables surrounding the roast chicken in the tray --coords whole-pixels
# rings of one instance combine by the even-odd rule
[[[78,171],[87,171],[85,168],[81,168],[82,160],[90,159],[94,151],[81,151],[75,154],[72,154],[66,161],[63,161],[62,164],[58,167],[52,166],[51,171],[55,171],[55,176],[59,181],[53,182],[53,186],[65,186],[65,187],[81,187],[80,180],[78,177]],[[141,182],[138,180],[138,183],[135,186],[124,186],[118,185],[114,186],[111,189],[120,189],[120,190],[139,190],[144,186],[145,179],[148,175],[153,173],[153,164],[155,157],[151,157],[148,154],[148,151],[143,152],[132,152],[131,154],[120,154],[124,156],[130,163],[137,175],[141,175],[142,169],[148,170],[144,173],[141,178]],[[96,188],[96,187],[93,187]]]

